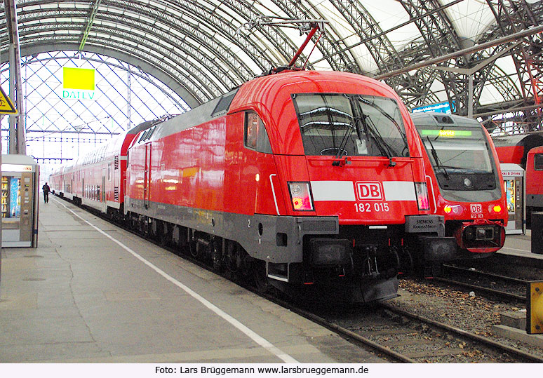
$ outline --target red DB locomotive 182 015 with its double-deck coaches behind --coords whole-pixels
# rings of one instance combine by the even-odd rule
[[[430,211],[425,158],[385,84],[284,71],[144,123],[50,181],[261,287],[368,302],[396,296],[406,255],[457,248]]]

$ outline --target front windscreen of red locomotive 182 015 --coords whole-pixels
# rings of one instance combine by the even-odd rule
[[[293,95],[306,155],[409,156],[394,99],[370,95]]]

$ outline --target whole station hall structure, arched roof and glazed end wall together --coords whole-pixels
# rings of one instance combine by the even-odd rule
[[[408,109],[445,103],[491,133],[539,130],[542,123],[541,33],[415,65],[538,26],[543,1],[2,1],[6,91],[12,3],[21,63],[18,125],[26,153],[41,164],[42,182],[59,164],[142,121],[180,114],[286,65],[309,31],[307,22],[292,20],[328,21],[300,58],[308,69],[384,78]],[[95,70],[86,98],[67,93],[65,67]],[[4,154],[8,128],[6,116]]]

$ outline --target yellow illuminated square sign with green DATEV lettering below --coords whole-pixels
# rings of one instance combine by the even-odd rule
[[[95,100],[95,69],[62,67],[62,98]]]

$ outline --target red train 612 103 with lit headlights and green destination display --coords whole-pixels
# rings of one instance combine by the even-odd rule
[[[445,217],[445,236],[457,242],[455,250],[434,256],[437,262],[486,257],[500,250],[507,203],[487,130],[462,116],[419,113],[411,118],[428,156],[431,212]]]

